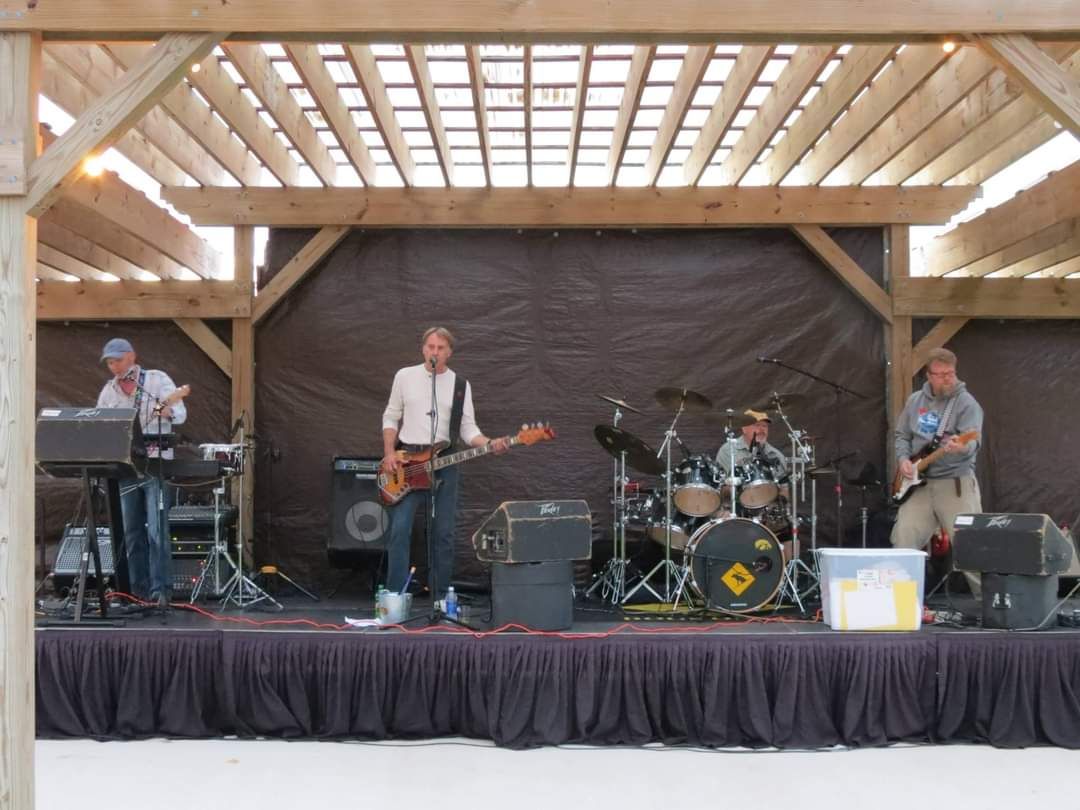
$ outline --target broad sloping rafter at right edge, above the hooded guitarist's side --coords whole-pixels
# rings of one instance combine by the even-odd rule
[[[990,208],[926,247],[927,273],[944,275],[1043,228],[1080,216],[1080,161]]]

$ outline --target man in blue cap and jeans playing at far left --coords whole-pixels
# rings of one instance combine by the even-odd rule
[[[112,379],[97,395],[99,408],[135,408],[143,434],[147,437],[149,458],[172,458],[173,450],[163,449],[164,440],[154,441],[159,433],[171,435],[174,424],[188,418],[181,399],[176,399],[176,384],[164,372],[143,368],[135,362],[135,349],[123,338],[112,338],[102,350]],[[172,404],[166,401],[176,399]],[[124,548],[131,575],[133,595],[149,598],[162,608],[172,595],[172,553],[168,539],[168,508],[172,488],[154,477],[153,463],[146,475],[120,482],[120,505],[124,519]]]

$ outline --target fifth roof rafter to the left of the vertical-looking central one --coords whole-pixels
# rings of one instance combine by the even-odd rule
[[[303,156],[315,177],[324,186],[336,185],[337,163],[330,157],[330,150],[326,148],[326,144],[319,137],[315,127],[300,109],[285,80],[281,78],[270,57],[262,50],[262,45],[232,43],[225,46],[225,53],[244,77],[247,86],[266,107],[267,112],[278,122],[285,137],[293,141],[297,151]]]

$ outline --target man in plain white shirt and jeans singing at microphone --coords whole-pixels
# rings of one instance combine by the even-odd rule
[[[480,447],[491,442],[476,427],[472,387],[459,378],[446,364],[454,353],[454,336],[442,326],[433,326],[420,340],[423,363],[406,366],[394,375],[390,400],[382,414],[382,469],[392,472],[401,465],[394,450],[401,446],[418,451],[431,444],[432,374],[435,376],[435,444],[451,448],[460,438]],[[505,438],[491,442],[496,453],[505,453]],[[429,542],[433,544],[435,570],[429,576],[442,598],[450,584],[454,567],[454,529],[457,522],[459,468],[447,467],[435,474],[435,523]],[[391,510],[390,543],[387,552],[387,588],[400,591],[409,569],[409,539],[417,505],[427,501],[427,494],[406,495]]]

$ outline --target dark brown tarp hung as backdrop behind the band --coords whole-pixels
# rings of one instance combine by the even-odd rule
[[[880,281],[880,230],[832,233]],[[311,234],[273,231],[260,283]],[[489,436],[534,420],[558,433],[551,443],[468,462],[457,565],[465,581],[483,579],[469,538],[503,500],[585,498],[607,534],[611,464],[593,428],[610,422],[611,409],[597,394],[643,409],[626,414],[622,427],[659,447],[671,415],[653,402],[657,388],[686,386],[740,410],[771,391],[805,393],[791,416],[819,436],[820,460],[858,453],[842,465],[846,477],[866,463],[885,467],[880,322],[786,230],[354,231],[258,328],[260,562],[321,588],[337,580],[326,555],[332,459],[380,455],[393,374],[419,361],[420,335],[433,324],[457,336],[451,366],[472,381]],[[215,328],[228,339],[226,324]],[[226,440],[228,379],[171,323],[41,324],[39,405],[92,402],[105,376],[97,353],[113,335],[130,337],[149,365],[178,383],[197,387],[189,440]],[[987,410],[984,505],[1071,522],[1080,505],[1068,386],[1080,368],[1080,324],[973,322],[951,346]],[[755,362],[759,355],[867,399],[837,399],[828,387]],[[686,414],[677,430],[697,453],[720,442],[721,423],[701,415]],[[783,426],[774,424],[771,441],[788,447]],[[39,483],[55,534],[70,509],[70,486]],[[832,482],[819,498],[823,542],[833,544]],[[849,541],[858,508],[858,490],[846,488]],[[606,556],[597,544],[594,562]]]

